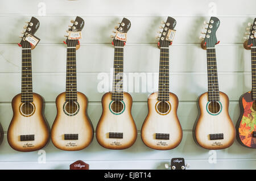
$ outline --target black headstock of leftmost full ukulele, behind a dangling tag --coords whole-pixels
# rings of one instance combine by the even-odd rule
[[[28,34],[34,35],[35,32],[38,30],[40,23],[39,23],[39,20],[36,19],[35,17],[32,17],[30,22],[26,22],[26,23],[27,23],[27,26],[23,27],[26,31],[23,31],[22,32],[23,36],[20,36],[22,40],[20,41],[19,46],[22,48],[34,49],[35,47],[34,46],[31,47],[31,44],[27,40],[25,40],[25,38],[27,37]]]

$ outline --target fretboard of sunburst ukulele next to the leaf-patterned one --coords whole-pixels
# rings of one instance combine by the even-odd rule
[[[218,91],[218,73],[215,48],[207,48],[207,72],[208,72],[208,101],[220,100]]]

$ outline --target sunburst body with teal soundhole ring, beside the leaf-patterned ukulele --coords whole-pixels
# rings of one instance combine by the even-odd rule
[[[200,115],[195,125],[196,142],[205,149],[217,150],[231,146],[236,138],[236,129],[229,116],[229,98],[220,92],[220,111],[209,112],[208,92],[200,95],[198,105]],[[223,134],[223,139],[210,140],[209,134]]]

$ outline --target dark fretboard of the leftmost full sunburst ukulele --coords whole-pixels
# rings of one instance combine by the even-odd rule
[[[22,103],[33,102],[31,47],[22,48]]]

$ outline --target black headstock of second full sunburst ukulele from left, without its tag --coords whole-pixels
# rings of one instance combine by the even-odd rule
[[[69,29],[67,32],[80,32],[82,31],[82,28],[84,28],[84,20],[79,17],[79,16],[76,16],[76,19],[75,20],[71,20],[71,23],[72,26],[68,26]],[[72,39],[68,39],[68,36],[65,36],[67,37],[67,40],[65,41],[66,44],[68,45],[68,47],[76,47],[76,45],[79,44],[79,40],[72,40]]]

